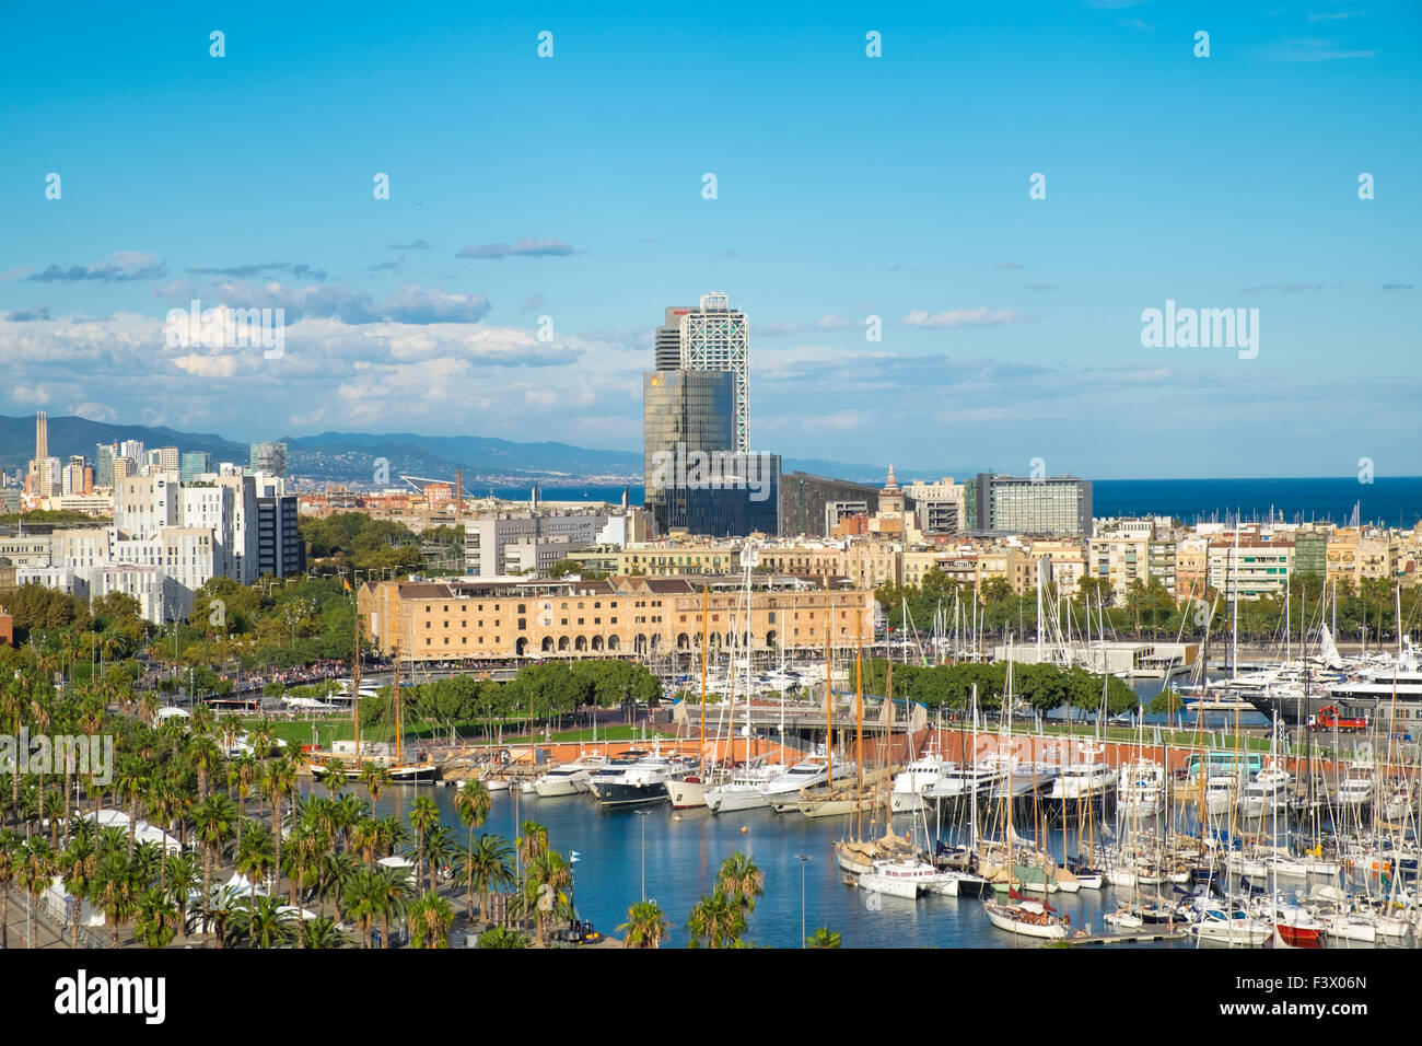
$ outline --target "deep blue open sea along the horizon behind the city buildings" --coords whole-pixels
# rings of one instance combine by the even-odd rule
[[[528,498],[526,487],[493,488],[503,498]],[[479,494],[478,488],[471,492]],[[572,485],[542,488],[549,501],[621,501],[621,485]],[[629,500],[643,502],[643,488],[633,484]],[[1422,519],[1422,477],[1357,477],[1311,480],[1096,480],[1092,482],[1092,511],[1096,517],[1169,515],[1187,524],[1226,519],[1285,522],[1331,519],[1347,522],[1354,505],[1362,522],[1412,527]]]

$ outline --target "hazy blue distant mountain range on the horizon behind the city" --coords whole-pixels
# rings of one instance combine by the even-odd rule
[[[249,444],[233,443],[215,433],[179,433],[166,427],[108,424],[81,417],[51,417],[50,455],[68,458],[82,454],[94,460],[100,443],[142,440],[148,450],[178,447],[183,451],[208,451],[218,461],[246,464]],[[589,480],[629,481],[641,478],[641,453],[589,450],[567,443],[513,443],[481,435],[419,435],[417,433],[321,433],[284,437],[287,475],[317,482],[368,484],[375,475],[375,461],[388,461],[390,478],[419,475],[454,480],[464,470],[466,484],[539,481],[546,485],[579,484]],[[0,468],[23,470],[34,457],[34,418],[0,416]],[[815,475],[832,475],[859,482],[883,482],[887,463],[853,465],[822,458],[785,458],[782,468]],[[975,470],[924,471],[899,467],[899,478],[936,480],[940,475],[964,477]]]

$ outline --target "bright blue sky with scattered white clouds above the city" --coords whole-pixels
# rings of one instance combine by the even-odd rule
[[[1418,471],[1416,3],[592,7],[0,7],[0,413],[636,450],[724,290],[786,457]],[[1166,299],[1257,357],[1142,347]]]

